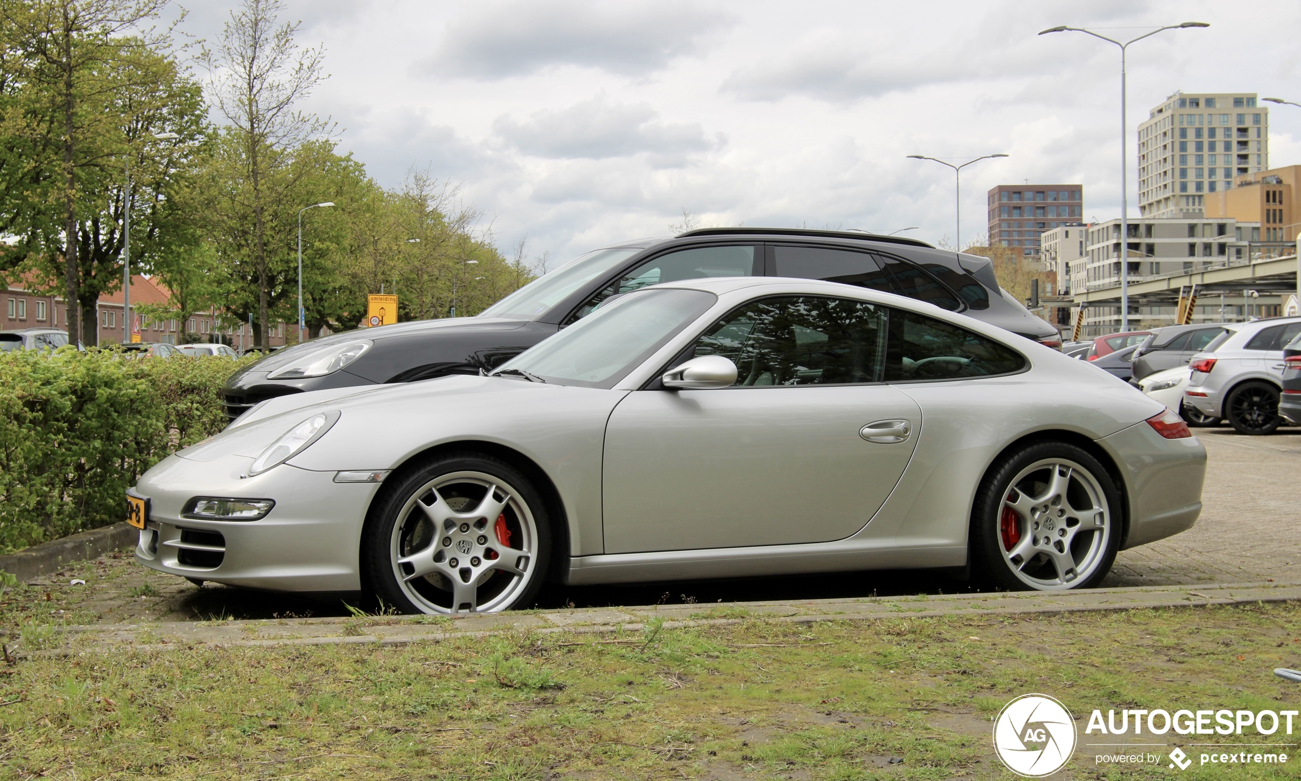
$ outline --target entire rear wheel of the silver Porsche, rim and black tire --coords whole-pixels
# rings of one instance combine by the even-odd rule
[[[1010,454],[981,486],[972,555],[995,586],[1086,587],[1119,546],[1119,498],[1089,452],[1046,442]]]

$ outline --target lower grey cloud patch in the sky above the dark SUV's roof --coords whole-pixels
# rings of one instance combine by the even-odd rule
[[[605,96],[561,110],[535,112],[530,121],[498,117],[493,130],[520,152],[535,157],[626,157],[650,152],[665,166],[682,165],[692,152],[723,144],[705,136],[699,122],[666,123],[649,104],[614,104]]]

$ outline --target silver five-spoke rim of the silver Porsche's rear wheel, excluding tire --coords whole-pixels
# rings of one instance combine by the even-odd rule
[[[1012,480],[998,544],[1012,574],[1038,590],[1073,589],[1106,560],[1111,511],[1098,480],[1066,459],[1036,461]]]

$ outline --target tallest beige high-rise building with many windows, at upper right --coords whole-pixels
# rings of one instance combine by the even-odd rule
[[[1138,212],[1201,217],[1206,194],[1270,168],[1270,112],[1254,92],[1175,92],[1138,125]]]

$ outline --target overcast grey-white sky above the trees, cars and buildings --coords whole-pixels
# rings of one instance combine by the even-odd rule
[[[215,38],[232,0],[186,3]],[[964,242],[999,183],[1082,183],[1085,216],[1120,214],[1119,49],[1133,38],[1133,130],[1166,96],[1301,103],[1301,3],[709,3],[294,0],[298,40],[330,78],[307,108],[396,187],[411,166],[463,186],[506,251],[553,262],[705,225],[954,235],[954,175],[907,155],[1006,160],[964,170]],[[1270,104],[1262,104],[1270,105]],[[1301,108],[1271,105],[1271,165],[1301,164]]]

